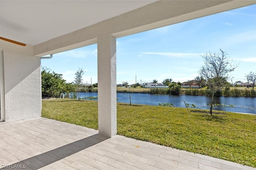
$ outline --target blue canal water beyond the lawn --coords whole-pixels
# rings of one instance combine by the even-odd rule
[[[98,97],[98,93],[81,92],[81,98]],[[153,95],[144,93],[117,93],[117,102],[132,104],[145,104],[159,106],[160,103],[173,104],[173,107],[186,107],[189,104],[190,108],[210,109],[210,96],[192,96],[192,95]],[[97,100],[97,99],[95,99]],[[256,98],[252,97],[214,97],[214,110],[231,111],[239,113],[256,114]]]

